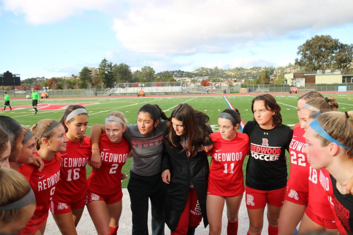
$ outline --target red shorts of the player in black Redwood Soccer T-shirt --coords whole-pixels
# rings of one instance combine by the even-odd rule
[[[285,196],[286,188],[280,188],[277,190],[257,190],[253,188],[245,187],[246,194],[246,208],[249,209],[260,209],[266,206],[266,203],[271,206],[282,206]]]

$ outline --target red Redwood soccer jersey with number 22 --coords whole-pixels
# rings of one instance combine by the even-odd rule
[[[291,155],[291,172],[287,185],[299,192],[309,192],[309,167],[304,148],[306,146],[305,131],[300,128],[300,123],[297,123],[293,128],[293,137],[289,145],[289,154]]]

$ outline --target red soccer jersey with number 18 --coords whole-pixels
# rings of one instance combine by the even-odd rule
[[[324,177],[321,170],[309,167],[309,198],[307,206],[314,215],[334,221],[333,211],[330,210],[333,201],[325,192],[332,191],[331,187],[331,180]]]

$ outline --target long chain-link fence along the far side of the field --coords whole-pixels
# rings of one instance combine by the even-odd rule
[[[144,85],[144,86],[143,86]],[[306,93],[309,91],[317,92],[339,92],[339,87],[345,86],[346,91],[353,91],[353,84],[312,84],[305,87],[298,87],[298,93]],[[50,97],[92,97],[92,96],[109,96],[109,95],[137,95],[139,90],[143,90],[146,95],[155,94],[229,94],[229,93],[281,93],[288,92],[289,85],[237,85],[234,87],[196,87],[195,84],[187,86],[182,82],[146,82],[146,83],[124,83],[116,84],[115,88],[106,89],[70,89],[70,90],[42,90],[38,93],[47,92]],[[236,91],[236,92],[235,92]],[[6,91],[11,98],[24,98],[31,95],[31,90],[26,91]],[[44,98],[45,99],[45,98]]]

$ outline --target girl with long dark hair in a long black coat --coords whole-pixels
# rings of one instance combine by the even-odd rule
[[[162,179],[168,184],[164,218],[172,235],[189,235],[195,233],[202,218],[205,227],[208,225],[209,165],[202,144],[209,140],[209,117],[188,104],[179,104],[171,119],[162,159]]]

